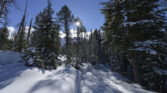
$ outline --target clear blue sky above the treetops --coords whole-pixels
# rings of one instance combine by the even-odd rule
[[[63,5],[67,5],[75,17],[80,17],[82,22],[88,31],[95,28],[100,28],[104,23],[104,16],[101,14],[100,9],[102,5],[100,2],[108,0],[51,0],[52,8],[55,10],[55,13],[58,12]],[[17,0],[19,8],[17,10],[13,7],[10,8],[9,14],[9,26],[14,26],[20,22],[21,17],[24,12],[26,0]],[[36,15],[43,11],[47,6],[47,0],[29,0],[28,10],[27,10],[27,25],[30,22],[30,19],[33,17],[35,20]],[[56,14],[53,15],[55,17]]]

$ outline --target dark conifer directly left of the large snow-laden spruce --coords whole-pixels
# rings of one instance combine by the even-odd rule
[[[110,0],[103,2],[104,8],[102,13],[105,14],[105,23],[102,27],[105,31],[103,46],[106,47],[106,54],[109,54],[109,64],[112,67],[112,71],[123,73],[123,61],[120,56],[128,47],[128,41],[126,40],[126,32],[121,24],[124,19],[124,4],[119,0]]]

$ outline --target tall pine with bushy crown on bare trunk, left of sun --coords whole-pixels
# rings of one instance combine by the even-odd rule
[[[71,61],[71,37],[70,37],[70,26],[74,21],[74,16],[72,15],[69,8],[65,5],[61,8],[61,10],[57,13],[57,19],[61,23],[61,27],[64,29],[66,33],[66,55],[67,60]]]

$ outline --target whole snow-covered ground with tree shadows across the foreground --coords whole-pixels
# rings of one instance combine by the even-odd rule
[[[103,65],[84,64],[81,71],[71,65],[51,71],[17,62],[0,66],[0,93],[151,93],[125,81]]]

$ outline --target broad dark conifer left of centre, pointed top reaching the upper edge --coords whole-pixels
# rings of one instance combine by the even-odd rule
[[[27,60],[46,69],[56,68],[60,50],[59,25],[53,21],[53,13],[51,2],[48,0],[47,8],[40,12],[35,20],[35,56],[30,55]]]

